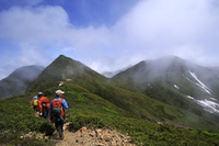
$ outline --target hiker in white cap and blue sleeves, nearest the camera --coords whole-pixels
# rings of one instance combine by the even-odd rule
[[[64,139],[65,109],[69,109],[67,101],[62,98],[64,93],[64,91],[57,90],[55,99],[50,101],[50,121],[55,123],[61,139]]]

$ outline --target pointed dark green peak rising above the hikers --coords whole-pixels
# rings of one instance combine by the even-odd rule
[[[38,78],[28,86],[26,91],[38,91],[49,86],[57,87],[64,81],[73,81],[85,86],[87,82],[106,81],[106,78],[80,61],[60,55],[44,69]],[[90,87],[89,83],[88,87]]]

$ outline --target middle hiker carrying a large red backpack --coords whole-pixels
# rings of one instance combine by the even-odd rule
[[[48,116],[48,110],[50,106],[49,99],[43,94],[43,92],[38,92],[38,112],[39,116],[47,117]]]

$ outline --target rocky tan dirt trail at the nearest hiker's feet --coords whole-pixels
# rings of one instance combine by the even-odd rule
[[[55,146],[136,146],[129,136],[116,131],[83,126],[77,132],[70,132],[68,125],[69,123],[65,124],[64,139],[58,139],[58,133],[54,134]]]

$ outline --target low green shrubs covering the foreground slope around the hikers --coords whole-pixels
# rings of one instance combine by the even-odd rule
[[[71,106],[67,111],[67,122],[71,122],[70,128],[72,131],[77,131],[81,126],[117,130],[123,134],[129,135],[132,142],[139,146],[217,146],[219,144],[219,133],[206,130],[186,130],[168,124],[157,124],[155,122],[146,120],[143,116],[134,114],[135,112],[130,109],[124,110],[73,83],[65,83],[61,89],[66,91],[65,98]],[[50,87],[45,89],[44,92],[51,99],[54,90],[55,88]],[[120,91],[120,97],[118,96],[117,98],[123,99],[123,93],[125,93],[125,91]],[[55,131],[54,126],[45,119],[34,115],[34,111],[28,103],[33,94],[34,93],[27,93],[1,100],[0,138],[3,141],[1,141],[0,144],[51,145],[51,139],[38,139],[34,136],[31,138],[21,138],[22,135],[28,132],[51,135]],[[112,93],[112,96],[114,96],[114,93]],[[140,94],[138,96],[139,98],[143,98]],[[132,102],[129,100],[131,99],[128,99],[127,102]],[[152,101],[148,102],[154,104]],[[137,103],[134,102],[132,104]],[[157,109],[158,116],[160,112],[168,113],[168,111],[164,110],[164,104],[157,104],[154,109]],[[139,106],[138,110],[142,109]],[[149,110],[149,113],[152,113],[152,110]],[[163,115],[163,117],[165,115]]]

